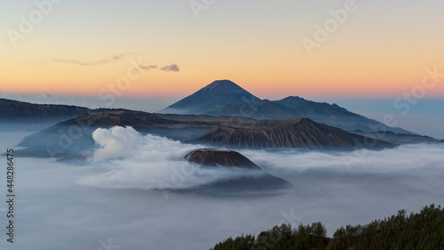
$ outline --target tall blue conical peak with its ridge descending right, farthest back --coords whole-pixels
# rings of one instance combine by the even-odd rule
[[[260,100],[228,80],[215,81],[160,113],[246,117],[256,120],[306,117],[345,131],[416,134],[355,114],[337,104],[307,101],[297,96],[289,96],[280,101]]]

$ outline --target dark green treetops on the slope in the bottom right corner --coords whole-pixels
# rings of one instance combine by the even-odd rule
[[[211,250],[299,249],[299,250],[440,250],[444,249],[444,209],[425,206],[418,214],[400,210],[384,220],[366,225],[347,225],[327,238],[321,222],[274,226],[258,234],[227,238]]]

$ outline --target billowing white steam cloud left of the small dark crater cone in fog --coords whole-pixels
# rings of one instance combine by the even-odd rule
[[[85,177],[79,184],[109,189],[178,190],[234,174],[187,162],[186,153],[198,148],[196,145],[152,134],[142,136],[132,127],[99,128],[92,138],[100,147],[94,154],[93,167],[105,173]]]

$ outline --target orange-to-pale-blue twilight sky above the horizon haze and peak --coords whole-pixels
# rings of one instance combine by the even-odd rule
[[[230,79],[271,100],[384,99],[386,113],[399,97],[442,100],[443,11],[440,0],[2,1],[0,94],[100,107],[112,95],[155,111]]]

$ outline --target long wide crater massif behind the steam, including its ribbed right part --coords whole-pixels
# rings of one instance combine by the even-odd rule
[[[169,116],[166,116],[169,117]],[[176,117],[176,116],[172,116]],[[218,120],[183,121],[130,110],[85,113],[25,137],[18,150],[22,157],[55,157],[61,160],[91,157],[97,128],[131,126],[139,133],[151,133],[171,140],[241,149],[387,149],[394,145],[377,141],[306,118],[244,121],[219,117]]]

